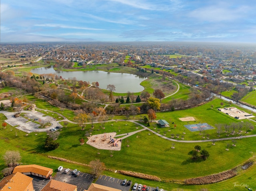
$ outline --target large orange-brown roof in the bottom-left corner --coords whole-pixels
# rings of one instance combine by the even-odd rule
[[[22,173],[10,174],[0,181],[1,191],[24,191],[32,182],[32,178]]]

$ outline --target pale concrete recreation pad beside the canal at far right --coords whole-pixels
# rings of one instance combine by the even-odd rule
[[[236,119],[246,119],[246,118],[255,117],[254,115],[248,114],[236,107],[228,107],[228,108],[224,107],[224,108],[218,108],[218,110]]]

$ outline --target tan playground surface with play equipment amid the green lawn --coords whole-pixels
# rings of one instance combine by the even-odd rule
[[[120,151],[122,142],[119,138],[115,139],[115,136],[116,132],[92,135],[86,144],[97,149]]]

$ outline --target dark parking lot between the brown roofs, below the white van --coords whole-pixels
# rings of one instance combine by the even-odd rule
[[[58,171],[54,176],[54,180],[76,185],[77,191],[84,191],[84,189],[87,190],[93,181],[91,174],[81,172],[78,176],[75,177],[72,175],[71,169],[68,173],[64,173],[65,170],[66,169],[63,168],[62,171]]]

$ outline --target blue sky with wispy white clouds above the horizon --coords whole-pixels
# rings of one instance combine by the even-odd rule
[[[256,42],[254,0],[1,0],[1,42]]]

